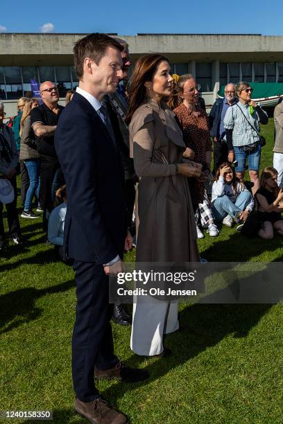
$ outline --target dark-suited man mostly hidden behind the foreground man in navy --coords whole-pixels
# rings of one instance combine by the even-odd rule
[[[135,204],[135,184],[137,182],[137,175],[135,175],[135,168],[130,158],[129,147],[129,130],[125,122],[126,114],[128,112],[128,100],[123,89],[122,82],[128,79],[128,69],[130,67],[130,56],[128,44],[120,38],[113,37],[123,47],[121,52],[123,61],[123,79],[119,82],[117,90],[110,93],[103,98],[103,105],[106,107],[110,121],[114,130],[117,145],[121,150],[121,157],[123,160],[123,168],[125,171],[125,188],[126,188],[126,202],[127,202],[127,227],[132,231],[132,212]],[[135,234],[132,234],[134,236]],[[113,321],[120,325],[130,325],[132,318],[128,314],[125,306],[121,301],[114,304]]]

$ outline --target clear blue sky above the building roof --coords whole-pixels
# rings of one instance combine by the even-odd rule
[[[8,33],[40,33],[49,24],[42,31],[283,34],[283,0],[14,0],[1,9],[0,32]]]

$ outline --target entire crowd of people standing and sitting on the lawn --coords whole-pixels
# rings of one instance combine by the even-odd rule
[[[76,272],[76,410],[92,423],[126,423],[101,399],[94,378],[137,382],[148,373],[114,355],[110,319],[132,323],[130,346],[137,355],[162,357],[171,354],[164,334],[179,328],[178,303],[137,297],[131,318],[121,301],[108,303],[108,276],[123,272],[133,240],[137,263],[188,263],[202,260],[200,227],[216,237],[222,224],[236,223],[247,234],[257,219],[252,235],[282,236],[283,103],[275,107],[273,167],[259,178],[260,125],[268,116],[252,100],[248,82],[226,85],[207,115],[194,76],[171,76],[162,55],[139,58],[128,81],[130,56],[122,39],[80,39],[74,66],[79,85],[67,92],[66,107],[50,81],[40,85],[41,104],[19,99],[10,126],[0,102],[0,250],[6,247],[3,204],[12,242],[23,241],[17,213],[22,174],[21,217],[36,220],[42,213],[47,242]]]

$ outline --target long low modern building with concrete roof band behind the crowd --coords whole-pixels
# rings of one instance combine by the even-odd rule
[[[113,34],[114,35],[114,34]],[[78,85],[74,43],[84,34],[0,34],[0,98],[7,107],[31,90],[30,80],[54,81],[60,95]],[[283,37],[259,34],[119,35],[128,42],[132,63],[146,53],[162,53],[174,73],[192,73],[207,104],[227,82],[283,82]]]

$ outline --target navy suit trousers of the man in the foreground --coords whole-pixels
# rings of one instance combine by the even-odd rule
[[[108,276],[103,265],[80,262],[76,272],[76,321],[72,340],[72,373],[78,399],[90,402],[99,397],[94,385],[94,366],[110,369],[119,361],[114,355],[113,305],[109,303]]]

